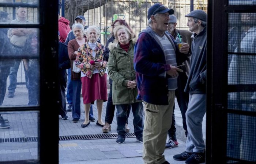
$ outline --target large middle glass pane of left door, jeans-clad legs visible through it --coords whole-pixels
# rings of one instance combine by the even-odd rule
[[[0,28],[0,105],[39,105],[39,30],[7,35],[12,29]]]

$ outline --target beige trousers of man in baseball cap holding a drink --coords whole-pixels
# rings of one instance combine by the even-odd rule
[[[143,129],[144,164],[164,163],[167,131],[171,128],[174,105],[174,91],[169,91],[169,105],[154,105],[145,102],[145,120]]]

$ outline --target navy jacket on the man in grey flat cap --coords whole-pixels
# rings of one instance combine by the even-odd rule
[[[206,57],[207,31],[204,27],[199,34],[193,34],[191,46],[190,74],[185,92],[190,94],[206,94]]]

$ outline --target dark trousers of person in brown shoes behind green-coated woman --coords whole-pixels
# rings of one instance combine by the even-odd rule
[[[116,105],[113,105],[113,101],[112,101],[112,84],[110,84],[108,103],[107,103],[107,107],[106,107],[105,122],[112,124],[115,108],[116,108]],[[130,112],[131,112],[131,105],[129,104],[128,110],[127,110],[127,122],[126,122],[127,124],[128,124],[128,118],[129,118]]]

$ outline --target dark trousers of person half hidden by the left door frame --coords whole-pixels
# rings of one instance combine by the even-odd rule
[[[60,89],[59,89],[59,114],[61,116],[65,116],[67,114],[66,110],[66,98],[65,98],[65,91],[67,87],[67,75],[60,76]]]

